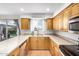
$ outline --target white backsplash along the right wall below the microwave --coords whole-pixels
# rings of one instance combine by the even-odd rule
[[[79,38],[78,34],[73,34],[73,33],[69,33],[69,32],[55,31],[55,34],[70,38],[72,40],[78,40],[78,38]]]

